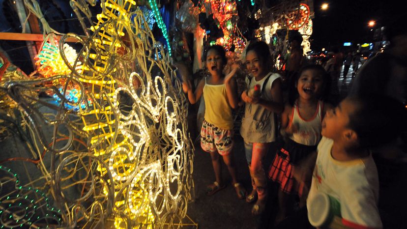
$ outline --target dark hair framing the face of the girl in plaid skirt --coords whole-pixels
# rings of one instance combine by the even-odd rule
[[[306,65],[306,66],[302,67],[300,69],[300,71],[295,75],[295,80],[292,81],[292,83],[290,85],[289,103],[291,104],[291,106],[294,105],[295,100],[299,96],[297,87],[295,85],[297,84],[299,78],[301,77],[301,74],[306,70],[314,70],[317,72],[317,74],[320,74],[320,76],[322,78],[322,88],[321,88],[320,96],[318,99],[325,100],[329,95],[329,90],[330,90],[330,86],[331,86],[329,74],[326,73],[325,69],[319,64]]]

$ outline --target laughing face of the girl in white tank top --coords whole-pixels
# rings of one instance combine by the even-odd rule
[[[319,97],[322,84],[322,76],[317,71],[308,69],[301,73],[296,86],[299,96],[308,100]]]

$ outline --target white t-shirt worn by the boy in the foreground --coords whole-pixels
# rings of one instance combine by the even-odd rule
[[[349,228],[382,228],[378,213],[378,171],[372,155],[348,162],[332,158],[333,141],[322,137],[307,198],[318,192],[328,194],[341,204],[342,223]]]

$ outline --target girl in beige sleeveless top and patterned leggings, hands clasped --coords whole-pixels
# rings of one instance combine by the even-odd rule
[[[267,180],[262,160],[270,143],[275,141],[274,114],[280,114],[284,108],[280,75],[269,72],[269,60],[270,52],[264,41],[250,43],[246,50],[246,67],[252,78],[247,79],[246,83],[249,91],[259,88],[259,95],[251,97],[246,90],[241,95],[245,102],[245,112],[240,134],[244,140],[253,186],[246,201],[254,202],[258,199],[252,208],[255,215],[264,210],[267,197]]]

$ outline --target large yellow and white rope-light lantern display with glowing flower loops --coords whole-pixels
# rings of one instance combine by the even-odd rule
[[[155,1],[151,3],[158,15]],[[67,33],[58,41],[65,63],[70,63],[63,51],[66,39],[75,38],[82,45],[73,63],[66,64],[69,76],[33,80],[38,84],[58,80],[61,89],[54,91],[65,97],[59,101],[59,108],[77,106],[77,113],[58,109],[51,121],[68,129],[66,147],[46,147],[46,141],[38,137],[51,155],[63,155],[50,162],[51,168],[57,169],[45,169],[44,177],[52,181],[49,185],[55,202],[67,208],[63,227],[91,227],[95,219],[103,219],[111,220],[117,228],[171,228],[174,219],[185,217],[187,201],[194,191],[193,144],[186,122],[188,103],[169,53],[154,40],[142,11],[135,10],[136,2],[105,0],[101,6],[97,21],[89,28],[90,35],[81,38]],[[77,2],[76,7],[86,5]],[[132,21],[130,14],[134,16]],[[159,25],[164,26],[162,19]],[[51,46],[47,49],[56,51]],[[41,58],[53,61],[57,53]],[[77,87],[70,87],[73,83]],[[13,98],[19,104],[29,104],[21,96]],[[89,98],[91,103],[87,103]],[[82,106],[84,102],[87,106]],[[27,105],[21,109],[28,120],[33,120],[32,116],[40,112],[31,112],[30,108]],[[34,124],[41,132],[43,127]],[[85,139],[86,152],[72,148],[69,139],[74,136]],[[66,152],[69,154],[63,154]],[[80,187],[80,197],[67,200],[62,182],[84,171],[86,178],[67,184]]]

